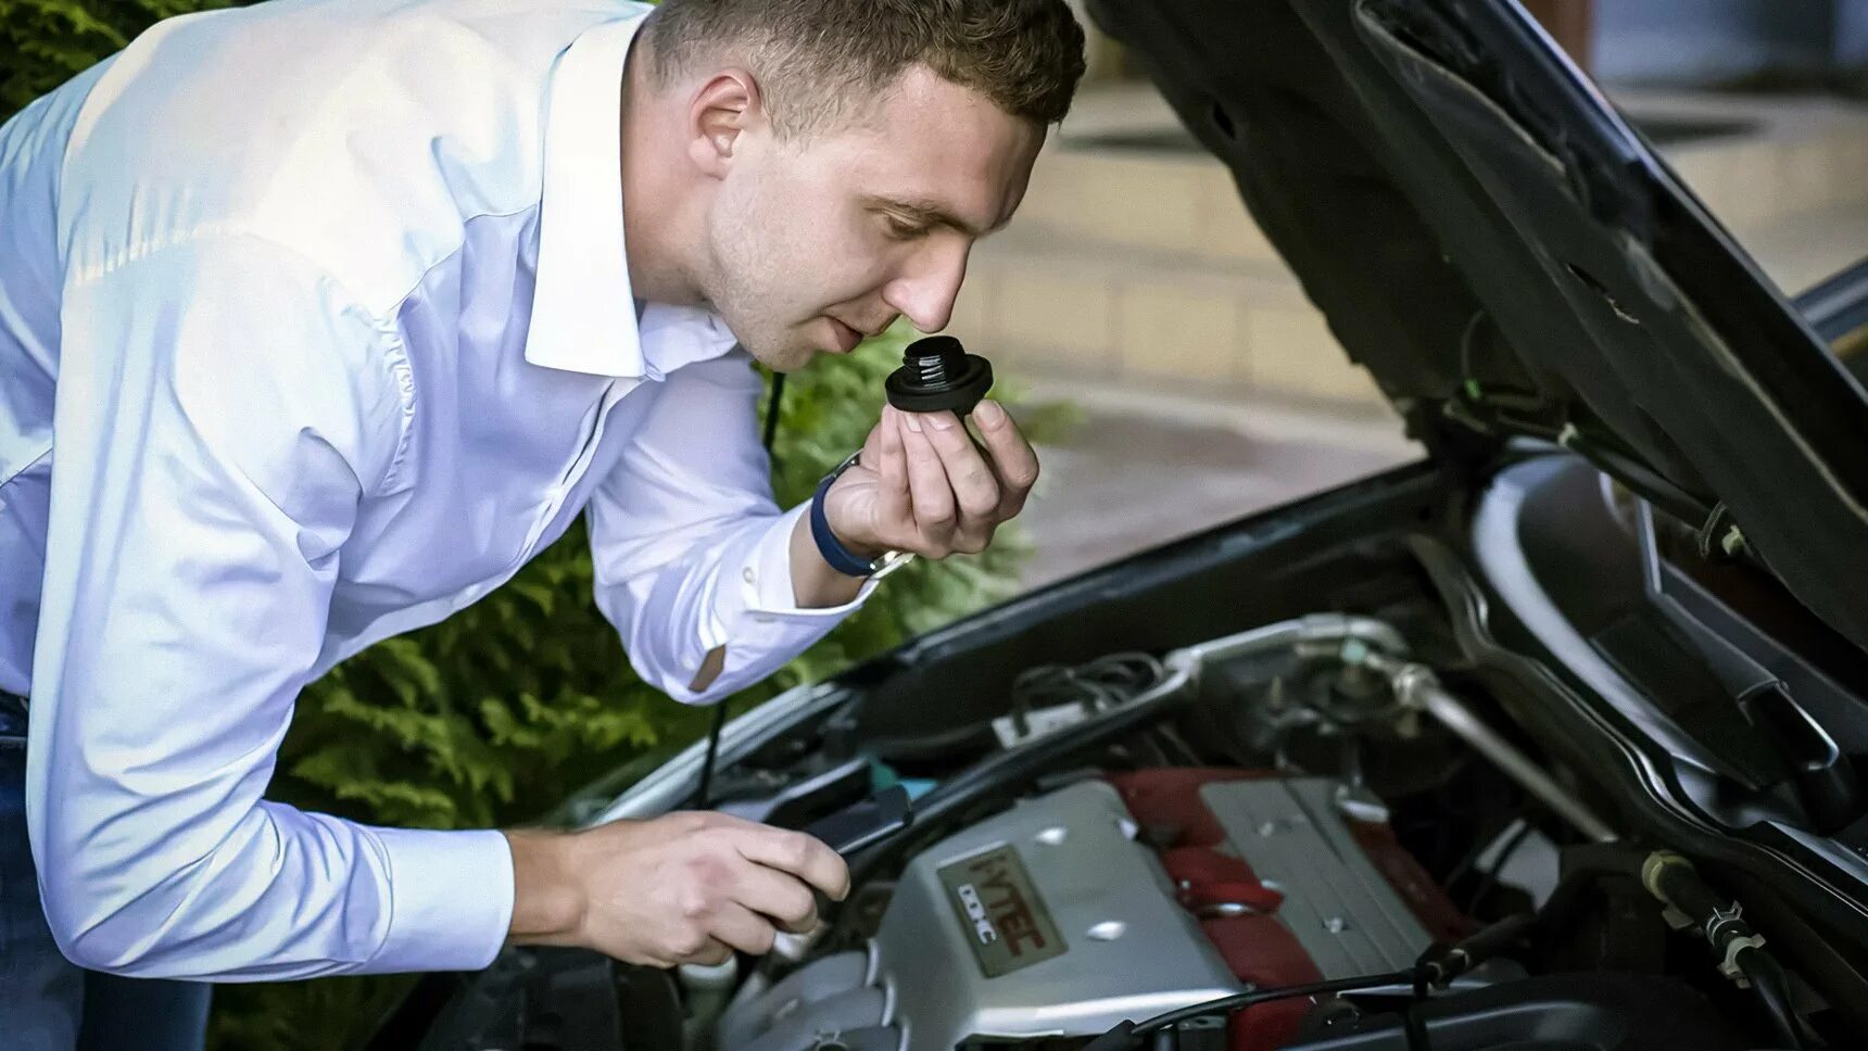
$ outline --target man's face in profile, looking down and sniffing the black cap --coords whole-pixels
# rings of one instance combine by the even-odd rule
[[[1042,131],[910,67],[846,127],[743,134],[708,215],[708,301],[790,371],[906,315],[947,327],[973,241],[1011,220]]]

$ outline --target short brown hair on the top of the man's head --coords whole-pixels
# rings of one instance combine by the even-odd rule
[[[781,136],[837,125],[913,63],[1040,127],[1083,75],[1065,0],[663,0],[644,34],[661,84],[743,56]]]

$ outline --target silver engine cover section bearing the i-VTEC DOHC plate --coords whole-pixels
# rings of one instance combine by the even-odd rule
[[[1085,780],[917,857],[876,933],[906,1045],[1102,1032],[1238,991],[1134,836],[1115,788]]]

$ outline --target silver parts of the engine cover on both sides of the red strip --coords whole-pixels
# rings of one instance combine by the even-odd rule
[[[1225,849],[1283,894],[1278,920],[1330,978],[1407,967],[1429,935],[1364,857],[1326,778],[1201,788]],[[1089,1036],[1240,991],[1115,788],[1024,801],[915,857],[867,954],[727,1012],[721,1047],[951,1051],[968,1036]]]

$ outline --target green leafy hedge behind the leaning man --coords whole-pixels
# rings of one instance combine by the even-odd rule
[[[161,17],[226,0],[0,0],[0,116],[123,47]],[[880,409],[882,377],[912,330],[792,375],[773,487],[809,497]],[[998,392],[1005,398],[1005,390]],[[1035,439],[1067,426],[1063,407],[1022,413]],[[732,711],[785,687],[998,601],[1027,554],[1018,523],[981,556],[915,562],[861,612],[777,676],[729,700]],[[359,821],[433,829],[538,820],[596,780],[643,769],[704,732],[708,711],[639,681],[596,609],[581,523],[506,586],[445,624],[381,642],[312,683],[280,750],[269,797]],[[633,762],[631,762],[633,760]],[[465,877],[465,874],[463,874]],[[213,1045],[355,1047],[409,978],[331,978],[215,991]]]

